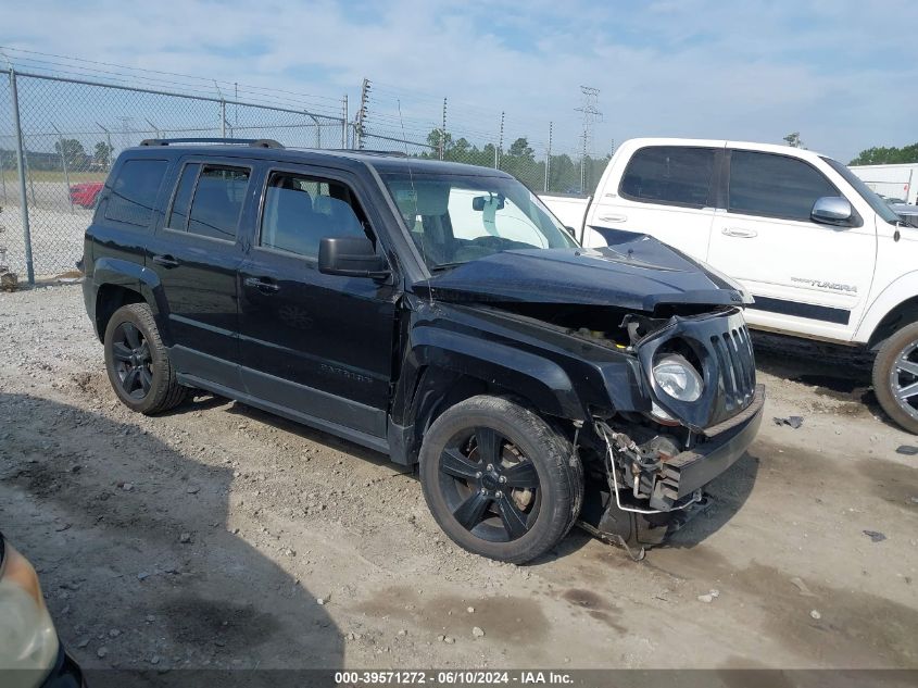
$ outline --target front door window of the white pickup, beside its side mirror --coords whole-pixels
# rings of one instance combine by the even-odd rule
[[[747,150],[730,153],[731,212],[808,222],[813,204],[823,196],[839,196],[839,190],[802,160]]]

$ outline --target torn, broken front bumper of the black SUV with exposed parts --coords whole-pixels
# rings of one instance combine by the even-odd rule
[[[762,425],[764,406],[765,387],[758,385],[751,403],[712,428],[713,436],[671,453],[665,445],[639,446],[596,421],[595,431],[606,447],[608,485],[588,490],[580,525],[628,547],[658,545],[707,505],[704,487],[745,453]]]

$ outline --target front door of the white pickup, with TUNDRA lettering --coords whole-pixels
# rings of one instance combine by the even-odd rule
[[[753,325],[850,338],[873,276],[875,218],[813,222],[818,198],[843,196],[814,164],[754,150],[728,155],[726,208],[715,214],[708,262],[755,298],[746,310]]]

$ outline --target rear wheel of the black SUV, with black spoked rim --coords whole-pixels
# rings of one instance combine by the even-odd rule
[[[105,327],[105,370],[122,403],[131,411],[160,413],[178,405],[188,389],[178,384],[146,303],[128,303]]]

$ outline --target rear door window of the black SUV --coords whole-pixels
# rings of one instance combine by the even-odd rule
[[[234,241],[249,187],[249,174],[246,167],[201,165],[188,213],[188,232]]]

